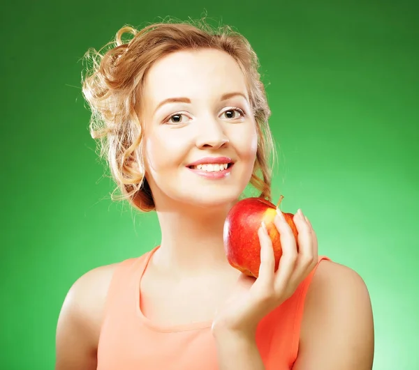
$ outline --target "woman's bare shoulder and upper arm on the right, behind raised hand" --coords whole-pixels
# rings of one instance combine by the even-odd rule
[[[370,370],[374,321],[367,286],[355,270],[323,260],[304,303],[293,370]]]

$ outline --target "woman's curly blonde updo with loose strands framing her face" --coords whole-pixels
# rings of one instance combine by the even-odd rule
[[[133,36],[131,40],[122,39],[125,33]],[[117,31],[115,40],[99,51],[90,48],[84,54],[84,59],[91,61],[91,65],[82,77],[82,93],[91,108],[91,137],[98,139],[100,157],[106,160],[117,183],[112,200],[126,199],[145,212],[155,209],[145,179],[142,127],[138,115],[143,81],[147,70],[161,57],[200,48],[228,53],[240,65],[247,79],[258,131],[258,148],[250,183],[260,191],[260,197],[271,200],[272,169],[269,162],[274,143],[267,123],[270,109],[265,87],[260,81],[258,57],[249,41],[230,26],[213,28],[203,20],[149,24],[140,31],[124,26]],[[122,194],[115,195],[118,189]]]

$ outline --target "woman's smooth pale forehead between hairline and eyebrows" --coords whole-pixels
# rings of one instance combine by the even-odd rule
[[[247,95],[246,79],[232,56],[216,49],[174,52],[147,72],[144,97],[151,105],[166,98],[216,99],[231,91]]]

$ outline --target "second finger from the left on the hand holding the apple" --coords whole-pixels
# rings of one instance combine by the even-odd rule
[[[281,210],[277,208],[277,216],[274,218],[274,224],[279,231],[279,240],[281,241],[282,256],[279,259],[279,266],[275,276],[275,290],[278,293],[284,291],[288,281],[293,273],[295,262],[297,261],[297,243],[294,233],[286,222]]]

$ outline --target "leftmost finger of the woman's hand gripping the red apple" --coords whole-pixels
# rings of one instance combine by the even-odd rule
[[[260,242],[260,266],[258,275],[259,284],[272,284],[275,270],[275,256],[272,240],[267,232],[265,222],[262,222],[258,237]]]

